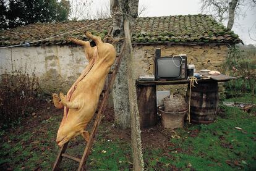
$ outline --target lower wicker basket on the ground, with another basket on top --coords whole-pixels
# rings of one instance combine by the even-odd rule
[[[186,111],[181,112],[165,112],[163,106],[158,107],[158,114],[161,115],[161,124],[164,128],[183,128],[184,126],[184,117],[187,113]]]

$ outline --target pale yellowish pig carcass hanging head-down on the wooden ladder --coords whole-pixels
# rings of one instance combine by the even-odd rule
[[[95,41],[95,47],[91,47],[89,41],[73,38],[71,40],[83,46],[89,64],[72,85],[67,96],[62,93],[59,96],[53,94],[54,106],[58,109],[64,108],[56,138],[58,146],[63,146],[77,135],[82,135],[85,141],[89,140],[90,134],[85,128],[95,114],[106,77],[116,59],[116,50],[112,44],[103,43],[99,36],[93,36],[88,31],[85,35]]]

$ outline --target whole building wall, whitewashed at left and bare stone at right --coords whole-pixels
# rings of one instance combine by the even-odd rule
[[[196,70],[220,70],[227,56],[225,45],[135,45],[135,76],[154,73],[155,49],[161,48],[162,56],[187,54],[187,62],[195,64]],[[40,85],[46,93],[64,91],[79,77],[87,65],[80,46],[38,46],[29,48],[0,49],[0,75],[12,69],[35,72],[40,77]],[[158,90],[182,91],[186,85],[158,86]]]

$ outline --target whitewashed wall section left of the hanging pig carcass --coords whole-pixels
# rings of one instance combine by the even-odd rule
[[[0,49],[0,75],[15,69],[34,72],[46,93],[66,92],[87,64],[83,49],[79,46]]]

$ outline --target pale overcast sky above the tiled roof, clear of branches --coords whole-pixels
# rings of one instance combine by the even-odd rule
[[[106,4],[109,0],[95,0],[95,6]],[[248,0],[247,0],[248,1]],[[166,15],[187,15],[200,14],[200,0],[140,0],[140,6],[147,7],[143,16],[166,16]],[[253,28],[250,32],[254,40],[256,40],[256,9],[250,9],[244,6],[241,9],[245,17],[235,19],[233,26],[234,33],[239,35],[245,44],[256,44],[255,41],[249,38],[248,30]],[[225,23],[226,25],[226,23]]]

